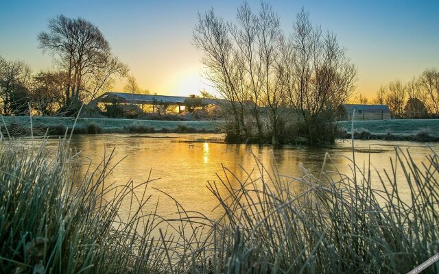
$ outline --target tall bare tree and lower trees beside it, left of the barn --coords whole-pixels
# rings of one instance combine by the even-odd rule
[[[53,57],[54,69],[32,72],[27,63],[0,56],[3,115],[28,114],[28,105],[38,115],[73,115],[128,75],[99,28],[83,18],[51,18],[38,42]]]

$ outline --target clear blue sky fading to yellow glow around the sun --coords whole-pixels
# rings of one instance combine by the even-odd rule
[[[192,45],[198,12],[213,8],[234,21],[241,1],[0,1],[0,55],[32,69],[53,66],[36,36],[58,14],[99,27],[112,52],[130,66],[139,86],[159,95],[191,95],[213,88],[202,77],[202,52]],[[248,1],[257,11],[260,1]],[[337,35],[357,66],[357,92],[372,98],[381,84],[403,82],[439,68],[439,1],[269,1],[285,33],[300,8]],[[115,85],[121,90],[123,82]]]

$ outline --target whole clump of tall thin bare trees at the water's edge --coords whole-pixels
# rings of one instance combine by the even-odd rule
[[[228,101],[231,142],[333,142],[335,110],[355,90],[356,69],[335,34],[300,11],[291,34],[267,3],[253,12],[242,3],[236,22],[213,10],[199,14],[193,44],[204,53],[209,79]]]

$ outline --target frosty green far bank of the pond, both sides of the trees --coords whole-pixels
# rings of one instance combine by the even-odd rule
[[[30,135],[29,116],[3,116],[11,135]],[[71,117],[32,117],[34,135],[63,135],[70,133],[75,123]],[[351,138],[351,121],[337,122],[337,138]],[[3,121],[0,127],[4,128]],[[153,134],[153,133],[219,133],[224,121],[156,121],[137,119],[79,118],[73,134]],[[354,138],[361,140],[394,140],[414,142],[438,142],[439,120],[384,120],[355,121]],[[5,133],[5,132],[3,132]],[[300,137],[298,137],[300,138]],[[300,138],[298,142],[306,140]],[[248,143],[251,143],[248,140]]]

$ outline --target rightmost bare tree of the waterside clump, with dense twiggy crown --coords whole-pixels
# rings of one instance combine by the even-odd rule
[[[355,66],[335,35],[322,34],[304,10],[294,23],[292,51],[292,72],[288,75],[293,79],[284,81],[288,83],[289,101],[307,128],[310,144],[331,141],[335,110],[355,90]]]

